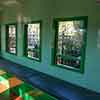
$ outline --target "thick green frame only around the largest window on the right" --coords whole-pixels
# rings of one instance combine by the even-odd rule
[[[81,64],[80,64],[80,68],[75,68],[74,66],[68,66],[68,65],[58,65],[56,63],[56,52],[57,52],[57,43],[58,43],[58,27],[59,27],[59,22],[60,21],[80,21],[83,20],[84,21],[84,29],[85,32],[83,34],[83,45],[82,45],[82,51],[81,51]],[[54,22],[53,22],[53,28],[54,28],[54,48],[52,48],[52,65],[60,67],[60,68],[64,68],[64,69],[68,69],[68,70],[72,70],[72,71],[76,71],[76,72],[80,72],[80,73],[84,73],[84,66],[85,66],[85,56],[86,56],[86,44],[87,44],[87,26],[88,26],[88,16],[79,16],[79,17],[68,17],[68,18],[55,18]]]

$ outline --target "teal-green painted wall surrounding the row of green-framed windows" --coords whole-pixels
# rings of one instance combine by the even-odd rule
[[[2,56],[27,65],[32,69],[52,75],[59,79],[100,92],[100,48],[97,48],[97,30],[100,27],[100,5],[95,0],[26,0],[22,6],[6,7],[2,14]],[[42,20],[42,61],[36,62],[23,57],[23,23],[17,22],[18,14],[30,20]],[[98,16],[99,15],[99,16]],[[52,66],[54,43],[53,18],[88,16],[88,34],[84,74]],[[18,56],[5,52],[5,24],[18,23]]]

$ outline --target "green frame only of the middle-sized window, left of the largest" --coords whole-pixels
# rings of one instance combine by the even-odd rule
[[[33,57],[33,58],[31,58],[31,57],[28,57],[28,54],[27,54],[27,44],[28,44],[28,42],[27,42],[27,28],[28,28],[28,24],[36,24],[36,23],[39,23],[40,24],[40,47],[39,47],[39,51],[40,51],[40,53],[39,53],[39,58],[35,58],[35,57]],[[24,48],[24,52],[23,52],[23,55],[26,57],[26,58],[28,58],[28,59],[30,59],[30,60],[34,60],[34,61],[38,61],[38,62],[41,62],[41,47],[42,47],[42,21],[41,20],[39,20],[39,21],[31,21],[31,22],[28,22],[28,23],[25,23],[24,24],[24,42],[23,42],[23,48]]]

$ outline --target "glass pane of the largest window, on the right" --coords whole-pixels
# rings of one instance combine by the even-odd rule
[[[84,34],[83,20],[59,21],[56,63],[80,67]]]

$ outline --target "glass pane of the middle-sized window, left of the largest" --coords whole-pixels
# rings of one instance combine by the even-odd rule
[[[40,23],[28,24],[28,57],[38,59],[40,48]]]

